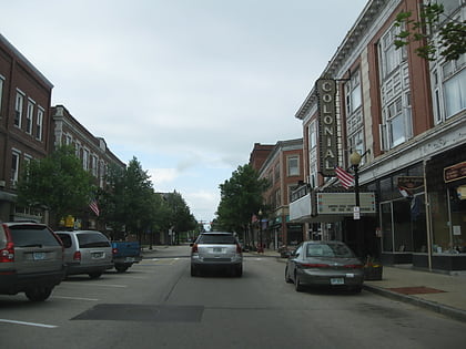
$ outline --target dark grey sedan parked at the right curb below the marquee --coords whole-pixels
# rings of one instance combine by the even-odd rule
[[[342,242],[304,242],[286,263],[285,280],[294,283],[296,291],[306,286],[328,286],[361,292],[364,265]]]

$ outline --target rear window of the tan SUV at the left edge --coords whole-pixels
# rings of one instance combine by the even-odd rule
[[[60,246],[60,242],[42,225],[14,225],[9,227],[16,247]]]

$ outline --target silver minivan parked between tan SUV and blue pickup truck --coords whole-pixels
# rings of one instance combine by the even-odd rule
[[[57,232],[64,246],[64,263],[68,275],[88,274],[99,278],[113,268],[110,240],[97,230]]]

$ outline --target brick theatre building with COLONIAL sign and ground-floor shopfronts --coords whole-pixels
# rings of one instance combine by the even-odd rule
[[[466,269],[466,58],[429,62],[416,44],[394,44],[396,16],[419,18],[424,2],[368,1],[296,112],[310,191],[291,204],[291,216],[362,257],[458,270]],[[437,2],[449,19],[466,19],[464,1]],[[355,168],[355,151],[364,155],[363,198],[375,197],[361,204],[361,219],[348,201],[355,193],[334,173]]]

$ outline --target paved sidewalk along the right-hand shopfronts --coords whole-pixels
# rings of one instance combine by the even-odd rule
[[[274,250],[245,255],[276,257],[286,261]],[[366,280],[364,289],[466,322],[466,273],[447,275],[413,269],[409,265],[384,266],[382,280]]]

